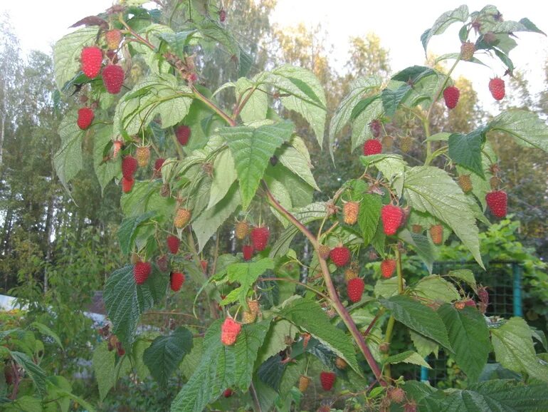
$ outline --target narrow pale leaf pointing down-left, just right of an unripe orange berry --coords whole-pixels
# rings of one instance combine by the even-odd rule
[[[219,227],[228,219],[240,206],[240,192],[238,185],[233,183],[232,187],[221,202],[218,202],[211,209],[203,212],[194,220],[192,230],[198,240],[199,252],[204,249],[206,242],[214,235]]]

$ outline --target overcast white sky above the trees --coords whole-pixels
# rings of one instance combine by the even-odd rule
[[[1,0],[0,11],[8,10],[12,24],[21,39],[23,50],[37,48],[49,51],[51,44],[68,32],[68,26],[83,16],[98,14],[112,5],[112,0]],[[303,21],[308,26],[318,22],[330,34],[335,45],[334,61],[340,67],[346,60],[349,36],[360,36],[374,31],[382,45],[389,49],[394,72],[423,63],[420,36],[444,11],[468,4],[470,10],[479,10],[485,4],[495,4],[507,20],[528,17],[539,29],[548,32],[548,2],[542,0],[278,0],[273,22],[293,26]],[[230,18],[230,16],[228,16]],[[446,34],[436,36],[429,50],[437,55],[458,51],[458,24]],[[510,53],[516,68],[529,72],[534,92],[542,88],[544,61],[548,58],[548,39],[538,34],[517,34],[518,47]],[[490,77],[502,75],[502,66],[485,68],[463,63],[455,73],[463,74],[474,83],[480,100],[489,106],[492,98],[487,83]]]

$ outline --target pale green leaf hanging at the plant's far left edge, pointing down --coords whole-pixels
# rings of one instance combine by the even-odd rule
[[[68,182],[82,169],[82,139],[84,130],[80,130],[76,124],[76,112],[68,112],[59,125],[59,137],[61,147],[53,155],[53,165],[61,184],[68,190]]]

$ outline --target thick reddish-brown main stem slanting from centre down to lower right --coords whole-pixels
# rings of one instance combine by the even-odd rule
[[[331,279],[330,269],[329,267],[327,267],[327,262],[325,261],[325,259],[322,259],[318,251],[318,247],[320,244],[317,242],[316,237],[312,235],[312,232],[310,232],[310,230],[308,230],[305,225],[302,225],[302,223],[299,222],[299,220],[297,220],[295,216],[288,212],[285,207],[280,205],[278,200],[276,200],[270,190],[268,190],[268,186],[265,182],[263,182],[263,187],[270,205],[274,207],[275,210],[278,210],[278,212],[284,215],[291,222],[292,225],[297,227],[297,229],[300,230],[300,232],[305,235],[305,237],[307,237],[307,239],[312,244],[312,247],[314,247],[318,256],[318,261],[320,262],[320,267],[322,269],[322,276],[324,278],[325,287],[327,287],[327,292],[329,293],[329,296],[332,300],[335,311],[337,311],[342,321],[347,326],[350,334],[354,338],[354,341],[356,341],[356,344],[358,345],[360,351],[362,351],[362,354],[364,354],[364,357],[369,364],[369,367],[373,371],[375,378],[379,381],[379,383],[381,383],[382,386],[386,386],[386,382],[382,379],[381,369],[379,368],[379,365],[376,364],[373,354],[371,353],[371,350],[369,350],[369,346],[367,346],[364,337],[359,332],[356,324],[354,323],[354,320],[352,320],[352,316],[350,316],[347,309],[339,300],[339,296],[337,295],[337,289],[335,289],[333,281]]]

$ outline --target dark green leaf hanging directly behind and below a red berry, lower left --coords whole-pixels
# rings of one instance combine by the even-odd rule
[[[167,279],[154,265],[147,282],[141,285],[135,283],[132,265],[118,269],[107,279],[103,299],[112,321],[112,332],[126,346],[130,346],[135,339],[141,314],[164,297]]]

